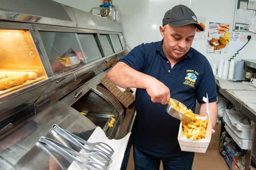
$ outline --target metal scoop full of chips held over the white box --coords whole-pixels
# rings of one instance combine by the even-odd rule
[[[175,100],[175,99],[172,99],[175,104],[178,106],[179,103],[186,109],[188,109],[184,104],[182,104],[181,102],[179,102],[178,100]],[[181,121],[184,121],[184,122],[192,122],[192,119],[190,119],[190,117],[180,113],[179,111],[175,110],[172,105],[170,105],[170,103],[167,104],[167,107],[166,107],[166,111],[169,115],[171,115],[172,117],[175,117],[176,119],[179,119]]]

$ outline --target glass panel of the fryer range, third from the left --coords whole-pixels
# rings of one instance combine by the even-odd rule
[[[94,38],[94,34],[78,34],[82,46],[84,57],[87,63],[102,58],[99,46]]]

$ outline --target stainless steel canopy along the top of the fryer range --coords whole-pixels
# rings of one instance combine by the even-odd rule
[[[0,4],[0,20],[122,32],[120,23],[52,0],[0,0]]]

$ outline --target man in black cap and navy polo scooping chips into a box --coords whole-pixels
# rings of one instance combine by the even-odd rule
[[[134,164],[136,170],[191,170],[194,152],[183,152],[178,144],[180,121],[166,112],[170,97],[206,115],[209,96],[212,129],[216,124],[216,84],[206,57],[191,48],[196,28],[203,31],[190,8],[174,6],[160,26],[162,41],[135,47],[109,71],[108,78],[122,88],[136,90]],[[214,130],[212,130],[214,133]]]

